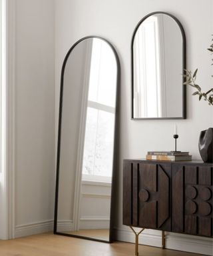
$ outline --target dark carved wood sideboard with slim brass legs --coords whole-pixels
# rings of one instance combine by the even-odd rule
[[[128,159],[123,168],[124,225],[162,231],[162,247],[164,231],[212,237],[212,163]]]

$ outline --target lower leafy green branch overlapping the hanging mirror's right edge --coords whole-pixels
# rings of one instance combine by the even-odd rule
[[[206,91],[206,93],[203,93],[201,91],[200,86],[196,84],[196,74],[198,72],[198,69],[194,71],[193,75],[191,71],[188,71],[186,69],[185,71],[186,71],[186,75],[184,75],[184,77],[186,77],[186,81],[184,82],[184,85],[190,85],[196,89],[196,91],[192,93],[192,95],[198,95],[199,101],[200,99],[204,98],[204,101],[208,101],[208,105],[213,105],[213,88]],[[212,93],[212,94],[208,95],[209,93]]]

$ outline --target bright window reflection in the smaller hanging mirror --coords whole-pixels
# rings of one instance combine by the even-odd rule
[[[160,74],[160,20],[146,19],[134,42],[134,109],[136,116],[162,117],[162,83]],[[162,51],[161,51],[162,53]]]

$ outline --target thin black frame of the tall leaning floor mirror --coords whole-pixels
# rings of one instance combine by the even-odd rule
[[[60,155],[61,155],[61,119],[62,119],[62,113],[63,113],[63,80],[64,80],[64,73],[65,73],[65,67],[67,64],[67,59],[69,58],[69,55],[81,41],[84,41],[86,39],[101,39],[105,41],[110,48],[112,49],[115,59],[116,59],[116,64],[117,64],[117,79],[116,79],[116,115],[115,115],[115,123],[114,123],[114,156],[113,156],[113,169],[112,169],[112,186],[111,186],[111,201],[110,201],[110,232],[109,232],[109,240],[105,241],[102,239],[95,239],[92,237],[84,237],[80,235],[71,235],[67,233],[61,233],[57,231],[57,217],[58,217],[58,200],[59,200],[59,166],[60,166]],[[117,144],[116,143],[116,135],[118,134],[118,131],[116,131],[118,127],[118,92],[120,91],[120,61],[118,58],[118,53],[116,52],[115,47],[107,40],[104,39],[103,37],[91,35],[87,37],[83,37],[79,39],[74,45],[69,49],[67,52],[67,55],[65,56],[65,59],[63,61],[62,69],[61,69],[61,84],[60,84],[60,97],[59,97],[59,125],[58,125],[58,141],[57,141],[57,168],[56,168],[56,183],[55,183],[55,209],[54,209],[54,227],[53,227],[53,233],[55,235],[64,235],[66,237],[77,237],[81,239],[87,239],[91,241],[99,241],[103,243],[112,243],[112,229],[113,229],[113,207],[112,204],[114,203],[114,185],[115,185],[115,171],[116,171],[116,149],[117,149]]]

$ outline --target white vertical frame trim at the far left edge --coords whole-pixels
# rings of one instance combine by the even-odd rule
[[[0,0],[0,3],[4,39],[1,40],[1,49],[5,67],[1,77],[0,101],[0,239],[12,239],[15,233],[15,0]]]

